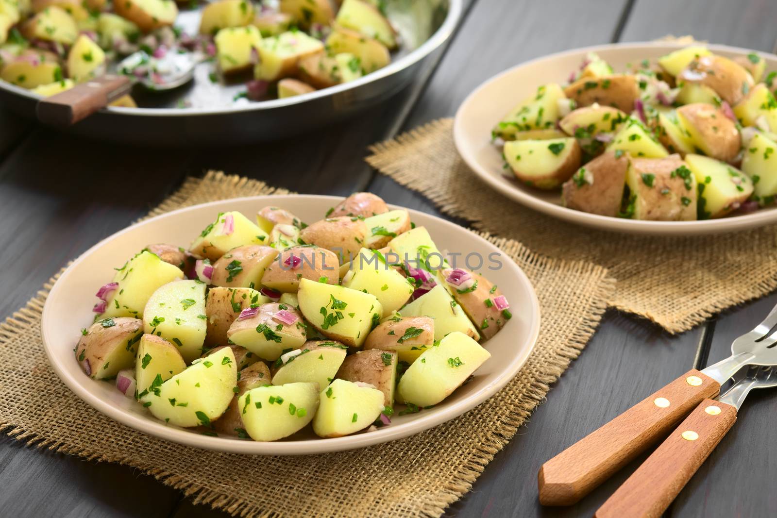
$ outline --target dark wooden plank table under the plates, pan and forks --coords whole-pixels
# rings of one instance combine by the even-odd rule
[[[54,134],[0,110],[0,317],[93,243],[124,228],[189,175],[221,169],[301,193],[369,190],[438,214],[365,165],[366,147],[441,116],[486,78],[559,50],[692,34],[772,51],[774,0],[469,0],[445,54],[415,84],[348,123],[274,144],[159,151]],[[577,506],[543,509],[543,461],[690,367],[726,356],[777,294],[671,336],[608,311],[547,402],[497,454],[451,516],[591,516],[636,463]],[[777,398],[755,393],[735,428],[681,492],[669,516],[777,516]],[[26,447],[0,436],[3,516],[226,516],[115,464]]]

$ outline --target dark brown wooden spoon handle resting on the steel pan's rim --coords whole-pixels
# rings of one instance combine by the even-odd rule
[[[40,99],[38,120],[44,124],[67,127],[108,106],[132,88],[124,75],[103,75],[91,79],[55,96]]]

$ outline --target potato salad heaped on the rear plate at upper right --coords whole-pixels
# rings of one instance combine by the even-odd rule
[[[495,127],[504,169],[591,214],[688,221],[745,214],[777,195],[777,71],[703,45],[615,73],[588,54]]]

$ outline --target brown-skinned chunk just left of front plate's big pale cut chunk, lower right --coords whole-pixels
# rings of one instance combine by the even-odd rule
[[[337,371],[337,377],[341,380],[371,384],[383,392],[383,405],[393,407],[397,358],[395,351],[357,351],[343,361]]]

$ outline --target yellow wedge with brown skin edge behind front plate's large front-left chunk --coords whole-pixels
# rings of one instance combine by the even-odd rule
[[[178,348],[161,336],[145,334],[141,336],[138,357],[135,361],[135,380],[137,397],[148,394],[149,388],[159,377],[157,385],[186,369],[186,361]]]

